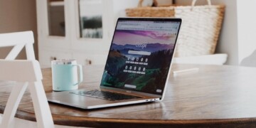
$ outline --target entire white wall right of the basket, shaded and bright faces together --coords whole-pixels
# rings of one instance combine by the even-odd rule
[[[176,0],[177,4],[191,4],[188,0]],[[256,50],[256,1],[212,0],[213,4],[225,4],[225,17],[220,33],[217,53],[228,53],[228,65],[240,65],[242,59]],[[198,5],[206,0],[198,0]]]

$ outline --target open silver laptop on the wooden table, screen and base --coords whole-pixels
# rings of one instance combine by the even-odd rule
[[[48,101],[90,110],[163,100],[180,27],[181,18],[118,18],[99,88]]]

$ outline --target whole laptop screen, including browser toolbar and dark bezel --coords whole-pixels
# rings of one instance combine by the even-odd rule
[[[101,86],[162,95],[181,19],[119,18]]]

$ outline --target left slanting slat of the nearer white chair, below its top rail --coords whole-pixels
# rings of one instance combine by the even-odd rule
[[[26,91],[28,82],[18,83],[11,90],[11,95],[7,101],[6,107],[4,109],[4,115],[1,122],[1,127],[11,127],[14,124],[14,116],[16,114],[18,104],[21,102],[21,98]]]

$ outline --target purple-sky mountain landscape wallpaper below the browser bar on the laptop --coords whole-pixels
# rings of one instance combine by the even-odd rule
[[[159,31],[116,31],[101,85],[161,95],[174,53],[175,40],[176,35]],[[150,55],[129,53],[131,50]],[[128,69],[131,73],[124,72],[127,67],[132,67]],[[138,69],[145,69],[144,74],[136,73]],[[124,85],[134,85],[134,88]]]

